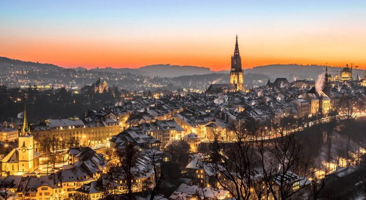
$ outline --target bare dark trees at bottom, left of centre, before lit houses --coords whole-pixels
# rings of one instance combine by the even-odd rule
[[[100,179],[104,196],[107,199],[132,200],[135,198],[133,193],[142,192],[153,200],[167,178],[161,173],[159,153],[155,149],[141,149],[133,142],[110,150],[107,153],[110,157],[107,173]]]

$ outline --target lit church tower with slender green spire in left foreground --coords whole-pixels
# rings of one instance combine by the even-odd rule
[[[27,111],[24,100],[24,122],[19,136],[19,172],[33,172],[33,136],[29,134]]]

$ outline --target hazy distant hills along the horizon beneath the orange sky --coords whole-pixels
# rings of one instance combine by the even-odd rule
[[[38,67],[40,69],[48,69],[55,71],[68,71],[72,73],[74,70],[84,71],[83,67],[76,67],[73,69],[59,67],[54,64],[46,64],[39,62],[29,62],[22,60],[13,60],[5,57],[0,57],[0,70],[4,70],[10,66],[18,66],[21,69],[27,70],[27,67]],[[245,74],[263,74],[268,76],[271,80],[276,78],[287,78],[289,81],[296,79],[313,78],[317,79],[318,75],[323,73],[325,66],[321,65],[299,65],[299,64],[271,64],[264,66],[257,66],[252,69],[244,69]],[[328,71],[331,75],[340,74],[341,67],[328,67]],[[212,71],[208,67],[198,67],[189,65],[171,65],[171,64],[154,64],[143,66],[138,69],[132,68],[93,68],[90,71],[94,72],[106,72],[106,73],[130,73],[138,75],[150,75],[159,77],[180,77],[180,76],[191,76],[191,75],[204,75],[204,74],[228,74],[229,71]],[[57,74],[57,73],[56,73]],[[363,78],[365,71],[361,69],[353,69],[353,78],[357,77],[357,74]]]

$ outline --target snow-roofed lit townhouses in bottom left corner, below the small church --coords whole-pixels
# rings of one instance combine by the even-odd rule
[[[6,189],[24,200],[77,200],[75,190],[99,179],[106,163],[88,147],[71,149],[69,158],[73,159],[60,172],[39,176],[9,175],[1,177],[0,182],[11,183]]]

